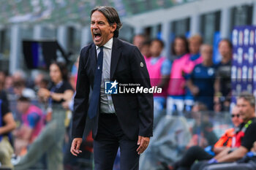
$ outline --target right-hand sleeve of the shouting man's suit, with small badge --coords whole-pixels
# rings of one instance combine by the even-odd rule
[[[141,55],[137,47],[134,47],[131,53],[131,71],[132,78],[135,83],[140,84],[140,87],[151,88],[148,69],[146,68],[145,59]],[[154,101],[151,93],[138,93],[139,112],[139,135],[144,137],[153,136],[153,119],[154,119]]]

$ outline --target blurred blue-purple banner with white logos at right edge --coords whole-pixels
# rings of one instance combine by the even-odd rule
[[[232,105],[246,90],[256,96],[256,26],[238,26],[232,32]],[[232,106],[231,106],[232,108]]]

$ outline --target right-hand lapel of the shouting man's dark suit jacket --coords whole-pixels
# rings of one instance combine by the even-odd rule
[[[121,55],[120,40],[113,38],[113,48],[111,54],[111,63],[110,63],[110,80],[113,80],[114,73],[116,71],[116,66]]]

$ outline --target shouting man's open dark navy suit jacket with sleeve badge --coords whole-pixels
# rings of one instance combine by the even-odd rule
[[[89,108],[90,88],[93,88],[94,72],[97,67],[97,53],[94,43],[83,47],[80,52],[77,93],[72,118],[72,137],[82,137]],[[146,63],[134,45],[113,38],[110,63],[110,80],[120,83],[138,83],[151,88]],[[121,129],[129,139],[153,135],[153,94],[112,94]],[[98,109],[99,110],[99,109]],[[94,117],[92,134],[97,136],[99,112]]]

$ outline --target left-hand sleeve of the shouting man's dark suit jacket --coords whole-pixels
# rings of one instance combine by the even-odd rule
[[[86,49],[81,50],[76,94],[74,98],[74,112],[72,117],[72,138],[82,138],[86,125],[89,106],[90,84],[86,74]]]

